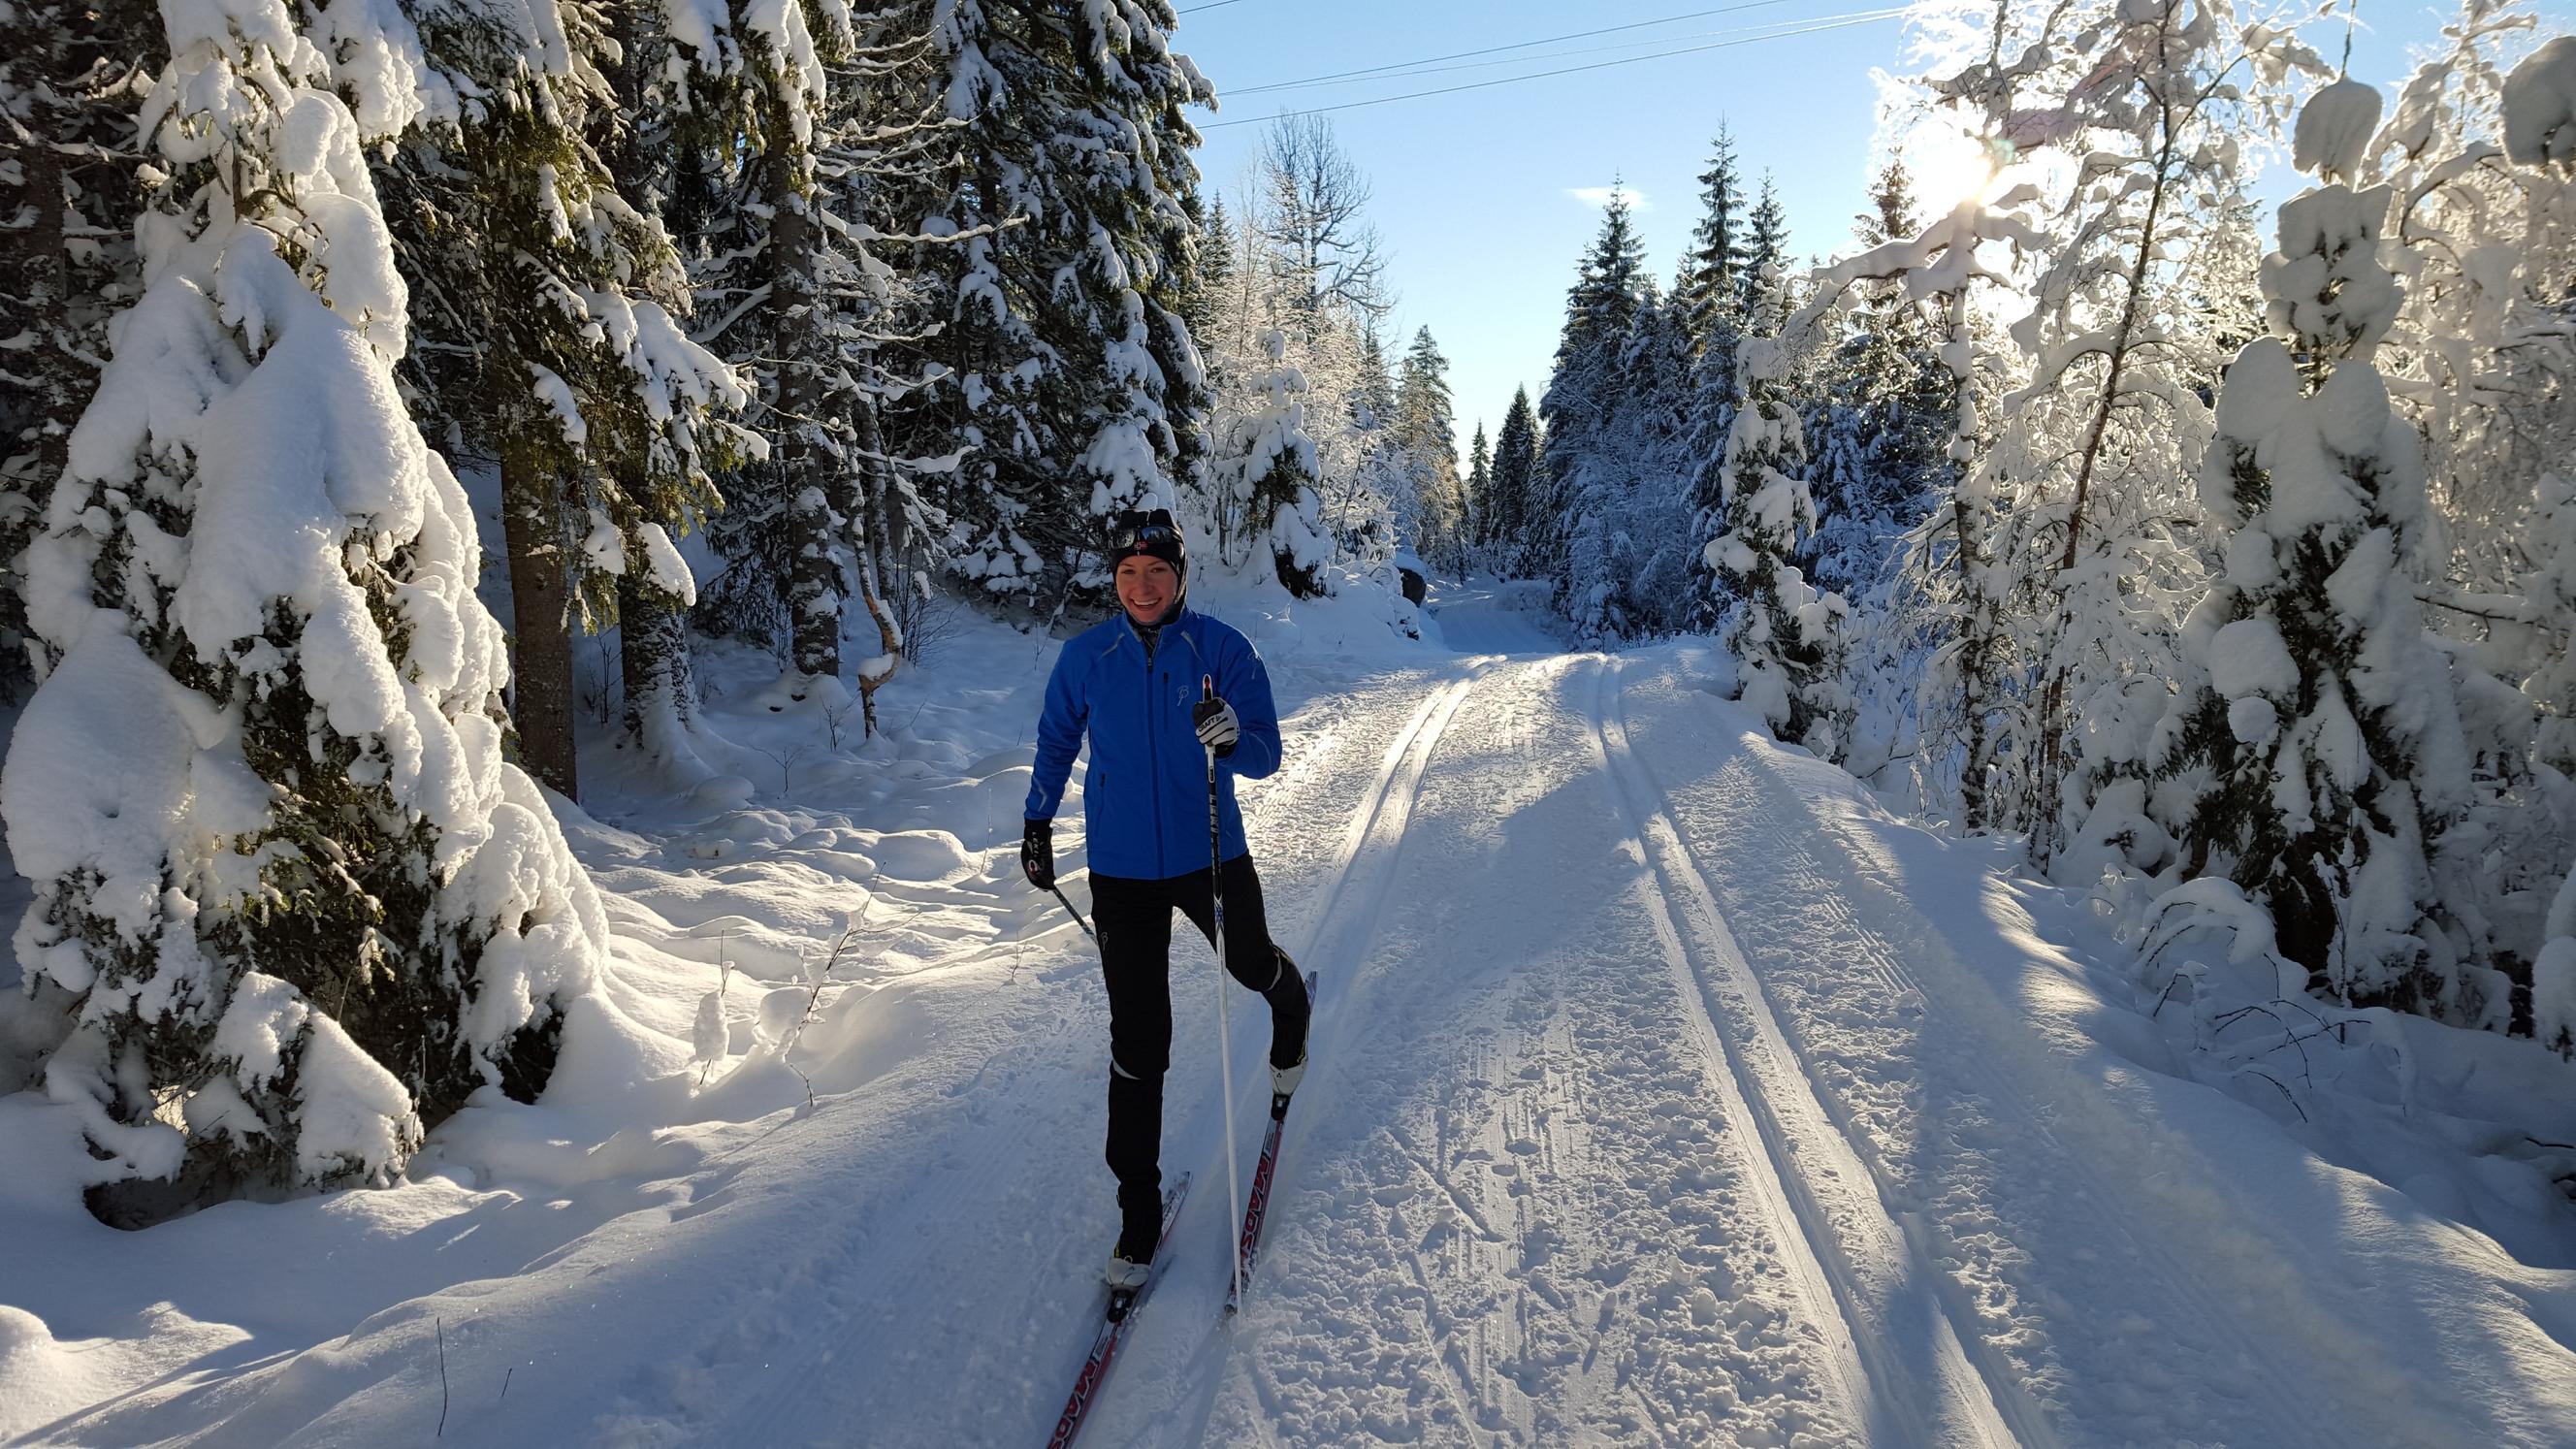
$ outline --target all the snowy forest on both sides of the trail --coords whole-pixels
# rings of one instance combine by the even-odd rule
[[[1718,634],[1783,740],[2061,882],[2576,1052],[2535,5],[2468,0],[2385,116],[2223,0],[1924,13],[1914,108],[1986,188],[1883,162],[1790,258],[1718,129],[1672,281],[1613,199],[1551,384],[1471,438],[1324,121],[1200,178],[1175,23],[0,5],[0,1029],[95,1212],[386,1181],[546,1083],[608,949],[549,804],[580,647],[688,781],[708,639],[873,730],[930,601],[1097,608],[1133,505],[1293,598],[1419,559],[1548,580],[1584,647]]]

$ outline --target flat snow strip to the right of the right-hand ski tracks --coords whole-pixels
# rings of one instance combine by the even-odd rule
[[[1656,688],[1677,704],[1669,678]],[[1625,743],[1623,696],[1605,714]],[[1674,732],[1667,753],[1682,745]],[[2017,1428],[2318,1449],[2455,1436],[2424,1413],[2450,1397],[2439,1382],[2321,1305],[2318,1284],[2223,1207],[2187,1142],[2069,1070],[1891,884],[1891,861],[1788,781],[1788,771],[1839,776],[1741,732],[1690,735],[1687,748],[1698,755],[1687,804],[1646,761],[1636,776],[1669,812],[1677,859],[1698,861],[1695,890],[1713,910],[1734,902],[1731,964],[1767,1034],[1880,1199],[1906,1204],[1899,1222],[1917,1261],[1937,1266],[1989,1379],[2027,1390],[2014,1395],[2030,1410]],[[2066,1312],[2066,1302],[2117,1312]],[[2166,1323],[2190,1330],[2159,1333]]]

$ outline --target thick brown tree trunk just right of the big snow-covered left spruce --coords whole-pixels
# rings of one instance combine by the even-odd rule
[[[510,629],[518,645],[510,660],[518,758],[538,781],[580,799],[562,503],[554,474],[515,441],[502,446],[500,518],[510,549]]]

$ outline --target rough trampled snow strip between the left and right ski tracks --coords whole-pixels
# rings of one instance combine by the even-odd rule
[[[1587,678],[1497,665],[1409,766],[1422,838],[1345,877],[1373,949],[1327,972],[1265,1289],[1139,1444],[1893,1441],[1716,1039],[1638,969]]]

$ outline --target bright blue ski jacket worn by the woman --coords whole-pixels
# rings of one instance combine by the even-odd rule
[[[1188,608],[1162,627],[1151,660],[1123,608],[1064,642],[1046,676],[1038,768],[1023,815],[1056,817],[1090,732],[1092,773],[1082,799],[1092,871],[1170,879],[1206,869],[1208,755],[1190,724],[1200,678],[1216,681],[1216,696],[1242,724],[1234,750],[1216,761],[1218,856],[1242,856],[1249,846],[1234,781],[1280,768],[1280,714],[1252,639]]]

